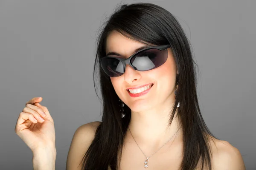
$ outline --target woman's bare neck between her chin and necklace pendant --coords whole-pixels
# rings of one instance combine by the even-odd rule
[[[140,143],[154,147],[163,145],[172,138],[172,136],[173,138],[171,141],[174,140],[174,138],[175,140],[180,140],[182,138],[182,130],[181,128],[178,130],[180,123],[176,116],[177,110],[172,120],[172,124],[169,125],[169,119],[172,112],[170,106],[173,104],[173,102],[166,101],[166,103],[150,108],[147,111],[131,111],[131,121],[129,124],[130,131],[128,133],[132,134],[138,144]]]

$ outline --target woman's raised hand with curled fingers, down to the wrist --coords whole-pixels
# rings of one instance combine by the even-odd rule
[[[41,97],[26,102],[15,125],[15,133],[28,145],[32,152],[55,149],[55,128],[47,107],[40,105]]]

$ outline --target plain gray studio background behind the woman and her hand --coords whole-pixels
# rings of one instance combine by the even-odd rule
[[[255,0],[0,0],[0,169],[32,169],[15,131],[25,103],[42,96],[55,121],[56,169],[83,124],[100,120],[93,88],[96,32],[118,3],[150,2],[177,17],[199,65],[204,120],[256,169]]]

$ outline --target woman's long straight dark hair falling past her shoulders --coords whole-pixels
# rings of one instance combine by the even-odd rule
[[[169,11],[160,6],[151,3],[133,3],[117,6],[103,26],[99,30],[93,71],[95,91],[95,79],[97,78],[95,74],[99,71],[103,102],[102,122],[97,127],[95,138],[81,161],[82,169],[107,170],[110,166],[111,170],[116,170],[118,161],[120,163],[122,145],[131,119],[131,109],[125,105],[125,117],[121,118],[119,97],[110,77],[99,66],[99,59],[106,56],[108,34],[111,31],[118,31],[144,44],[171,45],[179,76],[176,101],[169,124],[172,123],[177,110],[183,129],[184,148],[180,169],[194,170],[200,162],[202,169],[207,167],[211,170],[212,152],[209,141],[213,139],[213,135],[201,115],[196,93],[196,63],[192,59],[189,41],[179,22]],[[177,109],[178,102],[180,102],[180,107]]]

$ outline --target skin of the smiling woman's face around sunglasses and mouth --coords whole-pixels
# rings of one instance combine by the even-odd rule
[[[134,50],[143,47],[145,44],[124,37],[117,31],[112,31],[107,37],[106,54],[116,52],[123,58],[134,54]],[[111,57],[120,57],[108,55]],[[168,48],[166,62],[158,68],[149,71],[137,71],[126,65],[125,73],[119,77],[110,77],[113,88],[119,98],[131,108],[132,111],[146,111],[156,106],[162,107],[166,101],[174,102],[176,64],[171,48]],[[137,87],[154,83],[147,94],[138,97],[131,97],[127,88]],[[168,103],[169,105],[169,103]]]

